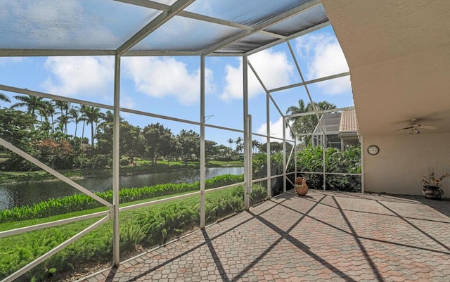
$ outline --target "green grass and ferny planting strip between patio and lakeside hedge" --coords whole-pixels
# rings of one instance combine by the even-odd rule
[[[238,192],[239,194],[241,189],[243,187],[238,186],[207,193],[205,196],[207,222],[214,222],[217,218],[226,217],[229,214],[242,210],[243,202],[236,193]],[[152,198],[145,201],[158,200],[165,197]],[[124,205],[133,205],[143,201],[140,200]],[[199,205],[200,196],[191,196],[168,203],[159,203],[136,210],[120,212],[121,260],[134,255],[137,245],[142,248],[151,248],[198,228]],[[0,230],[51,222],[101,210],[105,210],[105,208],[100,207],[70,214],[61,214],[55,217],[0,224]],[[80,222],[64,224],[63,226],[0,238],[0,279],[5,278],[13,271],[66,241],[98,219],[85,219]],[[77,271],[80,267],[83,268],[89,266],[89,264],[108,263],[113,257],[112,240],[113,226],[110,220],[50,259],[47,259],[46,262],[39,264],[30,273],[25,274],[23,281],[40,281],[49,275],[49,271],[54,271],[60,277],[71,276],[73,271]]]

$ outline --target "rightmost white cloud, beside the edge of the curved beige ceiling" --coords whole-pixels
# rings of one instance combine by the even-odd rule
[[[295,40],[297,53],[307,60],[307,79],[316,79],[348,72],[349,67],[338,39],[330,33],[306,34]],[[350,77],[340,77],[317,84],[324,94],[351,91]]]

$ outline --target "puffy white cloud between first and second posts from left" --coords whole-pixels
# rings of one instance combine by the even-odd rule
[[[173,96],[182,105],[200,100],[200,70],[188,71],[188,66],[174,58],[127,58],[122,64],[132,77],[136,90],[160,98]],[[205,70],[205,91],[213,91],[212,70]]]

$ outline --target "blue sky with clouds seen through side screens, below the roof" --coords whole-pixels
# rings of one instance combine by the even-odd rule
[[[331,27],[294,39],[291,45],[305,80],[348,71]],[[268,89],[300,82],[286,44],[249,56],[249,60]],[[207,57],[205,65],[207,123],[243,129],[241,58]],[[110,56],[0,58],[0,84],[113,105],[113,67],[114,58]],[[266,134],[266,97],[262,86],[251,71],[249,73],[252,131]],[[121,75],[121,107],[195,122],[200,120],[199,57],[124,57]],[[350,77],[310,84],[309,91],[314,101],[335,103],[338,108],[353,105]],[[17,95],[1,92],[7,96]],[[290,105],[297,105],[300,98],[309,101],[304,87],[272,95],[283,113]],[[270,134],[282,136],[281,116],[274,105],[270,113]],[[121,115],[141,127],[160,122],[174,134],[181,129],[200,132],[197,126],[190,124],[128,113]],[[86,130],[85,135],[89,136],[89,129]],[[238,136],[237,132],[206,129],[206,139],[226,145],[226,139]],[[264,141],[259,137],[255,139]]]

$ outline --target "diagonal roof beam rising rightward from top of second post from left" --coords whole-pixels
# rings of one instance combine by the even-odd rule
[[[314,8],[314,6],[317,5],[321,5],[321,0],[311,0],[306,3],[300,4],[295,8],[291,8],[290,10],[285,11],[284,13],[281,13],[279,15],[274,16],[273,18],[270,18],[269,20],[265,20],[263,23],[260,23],[259,25],[255,25],[255,27],[253,27],[252,30],[244,30],[243,32],[239,32],[238,34],[229,37],[229,39],[221,41],[219,44],[215,44],[214,46],[211,46],[203,50],[203,53],[206,55],[213,53],[214,51],[224,48],[224,46],[233,44],[234,42],[239,41],[240,39],[243,39],[252,34],[260,32],[267,27],[271,27],[272,25],[276,25],[277,23],[280,23],[281,21],[286,20],[287,18],[293,17],[294,15],[307,11],[310,8]]]

